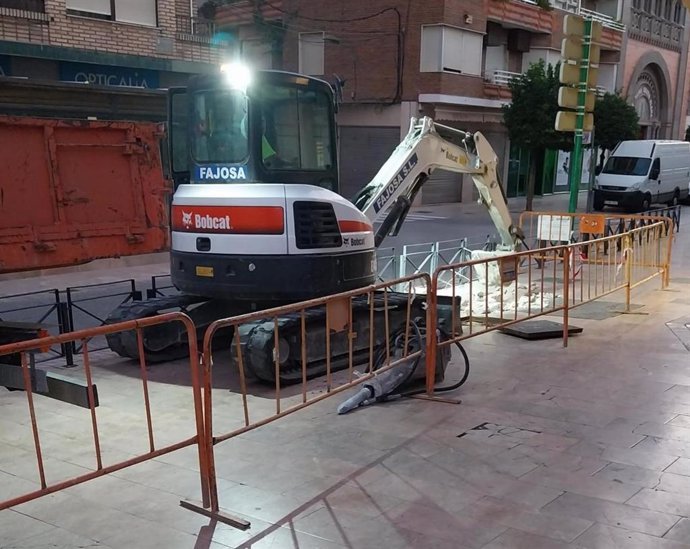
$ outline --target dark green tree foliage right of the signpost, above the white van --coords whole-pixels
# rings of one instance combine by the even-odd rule
[[[594,105],[594,144],[605,150],[620,141],[637,139],[639,116],[635,107],[618,93],[606,93]]]

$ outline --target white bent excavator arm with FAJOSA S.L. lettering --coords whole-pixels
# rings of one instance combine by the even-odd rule
[[[481,133],[443,126],[429,117],[412,118],[405,138],[353,203],[372,223],[380,223],[378,247],[387,235],[398,233],[415,196],[434,170],[467,173],[498,230],[501,249],[516,250],[522,235],[508,211],[497,164],[496,153]]]

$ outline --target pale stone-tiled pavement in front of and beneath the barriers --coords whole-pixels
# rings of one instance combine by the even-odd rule
[[[338,416],[335,396],[218,445],[220,504],[251,521],[246,532],[179,506],[199,497],[185,449],[0,512],[0,547],[690,548],[687,225],[672,276],[668,291],[635,291],[636,314],[574,319],[584,332],[567,349],[503,334],[467,342],[459,405],[400,400]],[[159,368],[157,426],[184,435],[184,368]],[[133,372],[98,372],[113,458],[139,434]],[[57,478],[92,466],[80,414],[39,403]],[[35,481],[26,416],[21,393],[0,393],[0,499]]]

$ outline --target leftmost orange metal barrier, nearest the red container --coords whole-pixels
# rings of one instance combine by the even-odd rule
[[[161,324],[168,324],[168,323],[176,323],[180,322],[183,324],[187,336],[188,336],[188,341],[189,341],[189,383],[191,385],[191,392],[192,392],[192,399],[193,399],[193,410],[194,410],[194,417],[190,419],[190,421],[193,421],[193,425],[189,425],[189,429],[192,431],[195,431],[195,434],[193,436],[190,436],[188,438],[185,438],[183,440],[179,440],[174,443],[169,443],[169,444],[164,444],[164,445],[157,445],[156,444],[156,431],[154,431],[154,414],[152,412],[152,406],[151,406],[151,399],[154,397],[154,395],[151,395],[149,391],[149,383],[148,383],[148,373],[147,373],[147,365],[146,361],[144,358],[144,348],[143,348],[143,335],[142,335],[142,330],[150,327],[150,326],[156,326],[156,325],[161,325]],[[96,336],[103,336],[106,334],[113,334],[117,332],[125,332],[125,331],[130,331],[134,330],[136,331],[136,336],[137,336],[137,342],[139,345],[139,366],[140,366],[140,373],[141,373],[141,383],[142,383],[142,390],[143,390],[143,404],[144,404],[144,414],[145,414],[145,431],[144,432],[144,438],[145,440],[138,441],[142,444],[142,446],[148,446],[148,451],[142,452],[138,455],[134,455],[134,457],[131,457],[129,459],[124,459],[124,460],[119,460],[115,461],[114,463],[110,464],[105,464],[104,463],[104,457],[103,457],[103,448],[104,446],[109,445],[109,441],[107,438],[103,437],[102,434],[105,430],[104,426],[99,423],[99,418],[98,418],[98,413],[97,413],[97,408],[100,406],[102,407],[102,403],[104,401],[104,395],[98,395],[96,386],[94,385],[94,368],[93,368],[93,362],[96,362],[98,360],[98,354],[92,352],[89,352],[89,347],[88,347],[88,342],[91,338],[96,337]],[[38,350],[38,349],[43,349],[46,347],[50,347],[51,345],[60,345],[64,343],[71,343],[71,342],[81,342],[83,345],[83,356],[82,356],[82,367],[83,367],[83,373],[85,376],[86,380],[86,391],[88,394],[88,413],[89,413],[89,418],[87,421],[90,423],[91,426],[91,432],[93,436],[93,450],[95,454],[95,468],[93,470],[90,470],[88,473],[80,474],[73,476],[71,478],[67,479],[62,479],[58,482],[50,483],[46,479],[46,466],[45,462],[46,460],[53,460],[55,459],[54,456],[51,455],[52,452],[54,451],[64,451],[64,442],[61,444],[55,444],[54,447],[51,447],[48,451],[45,451],[44,445],[41,442],[41,430],[39,429],[39,422],[37,418],[37,406],[36,402],[34,402],[34,393],[32,389],[32,371],[30,370],[29,366],[29,358],[27,355],[31,353],[32,351]],[[50,494],[53,492],[57,492],[59,490],[63,490],[65,488],[69,488],[71,486],[74,486],[76,484],[80,484],[82,482],[106,475],[108,473],[112,473],[114,471],[119,471],[121,469],[124,469],[126,467],[130,467],[132,465],[136,465],[138,463],[142,463],[146,460],[149,460],[154,457],[162,456],[164,454],[173,452],[175,450],[179,450],[181,448],[185,448],[187,446],[192,446],[192,445],[198,445],[199,449],[199,467],[200,467],[200,472],[201,472],[201,493],[202,493],[202,500],[204,501],[205,504],[207,504],[209,497],[208,497],[208,486],[209,486],[209,476],[210,472],[208,469],[208,458],[205,454],[207,450],[207,445],[204,444],[200,437],[204,436],[204,428],[203,428],[203,406],[202,406],[202,396],[201,396],[201,383],[200,383],[200,368],[199,368],[199,357],[198,357],[198,351],[197,351],[197,343],[196,343],[196,328],[191,321],[191,319],[183,314],[183,313],[167,313],[163,314],[160,316],[156,317],[151,317],[151,318],[144,318],[141,320],[136,320],[136,321],[127,321],[127,322],[121,322],[118,324],[110,324],[106,326],[101,326],[97,328],[90,328],[87,330],[81,330],[78,332],[72,332],[72,333],[67,333],[67,334],[61,334],[57,336],[52,336],[52,337],[44,337],[40,339],[33,339],[33,340],[28,340],[28,341],[21,341],[17,343],[12,343],[8,345],[4,345],[0,347],[0,357],[1,356],[6,356],[6,355],[15,355],[19,354],[21,357],[21,369],[23,372],[23,377],[24,377],[24,390],[26,392],[26,398],[29,406],[29,415],[31,418],[30,426],[31,426],[31,432],[32,432],[32,437],[33,437],[33,445],[35,449],[35,456],[37,460],[37,467],[38,467],[38,478],[40,481],[40,489],[34,490],[28,493],[24,493],[21,495],[18,495],[16,497],[11,497],[9,499],[6,499],[5,501],[0,501],[0,510],[2,509],[7,509],[9,507],[13,507],[15,505],[19,505],[21,503],[25,503],[27,501],[31,501],[33,499],[36,499],[38,497],[44,496],[46,494]],[[96,359],[93,359],[93,355],[96,355]],[[105,401],[108,401],[108,398],[106,396]],[[55,403],[55,401],[49,401],[52,405],[52,403]],[[102,415],[105,416],[105,421],[109,419],[110,414],[108,412],[111,412],[109,409],[104,409],[102,411]],[[112,413],[112,412],[111,412]],[[74,416],[71,414],[72,417],[70,417],[70,421],[66,423],[76,423],[77,416]],[[54,418],[48,418],[46,421],[50,421],[51,419]],[[118,418],[120,419],[120,418]],[[105,426],[108,427],[108,426]],[[76,429],[76,427],[73,427],[71,425],[65,425],[65,429]],[[117,425],[116,426],[117,430],[122,432],[122,427]],[[137,441],[134,439],[132,436],[132,432],[137,428],[136,425],[127,425],[126,426],[126,434],[127,434],[127,448],[128,452],[132,451],[131,448],[137,443]],[[51,425],[51,428],[46,429],[46,432],[48,432],[50,435],[55,436],[55,433],[58,432],[60,429],[60,425],[55,425],[54,422]],[[53,438],[51,437],[51,438]],[[61,440],[64,440],[61,438]],[[59,446],[59,447],[58,447]],[[113,446],[110,446],[110,449],[113,449]],[[134,453],[132,451],[132,453]],[[84,456],[79,456],[80,460]],[[84,463],[80,463],[80,466],[82,467],[87,467]],[[91,469],[91,467],[88,467]]]

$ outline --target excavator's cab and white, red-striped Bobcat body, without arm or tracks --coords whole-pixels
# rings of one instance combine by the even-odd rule
[[[339,193],[335,110],[323,80],[241,65],[169,92],[180,291],[258,307],[374,281],[372,225]]]

